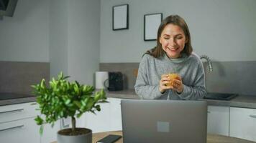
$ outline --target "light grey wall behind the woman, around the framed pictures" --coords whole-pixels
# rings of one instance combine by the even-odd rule
[[[129,4],[129,29],[112,30],[112,6]],[[255,0],[101,0],[100,62],[139,62],[156,45],[144,41],[144,14],[182,16],[197,54],[214,61],[256,61]]]

